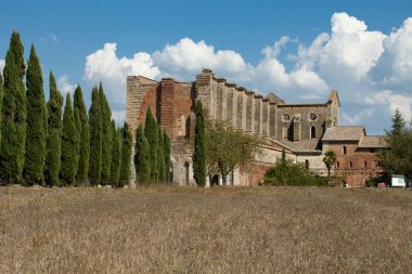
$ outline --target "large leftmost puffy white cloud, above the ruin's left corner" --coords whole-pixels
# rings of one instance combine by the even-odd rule
[[[108,96],[116,103],[125,103],[126,77],[141,75],[156,78],[160,70],[154,66],[152,56],[139,52],[132,58],[118,57],[116,43],[105,43],[103,49],[86,57],[85,77],[93,84],[102,81],[108,88]]]

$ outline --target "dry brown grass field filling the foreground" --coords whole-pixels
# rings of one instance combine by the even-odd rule
[[[411,272],[411,191],[0,187],[0,273]]]

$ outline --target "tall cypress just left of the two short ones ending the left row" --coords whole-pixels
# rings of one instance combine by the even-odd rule
[[[103,86],[99,87],[100,109],[102,113],[102,184],[106,184],[111,180],[111,164],[112,164],[112,112],[104,95]]]

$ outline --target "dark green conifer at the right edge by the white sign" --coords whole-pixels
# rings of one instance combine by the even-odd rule
[[[379,154],[379,165],[384,172],[382,179],[389,182],[391,174],[404,174],[412,178],[412,128],[407,127],[397,109],[392,116],[391,130],[386,132],[388,149]]]

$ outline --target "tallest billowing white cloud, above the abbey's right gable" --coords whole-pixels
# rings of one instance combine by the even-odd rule
[[[299,62],[331,82],[342,82],[342,78],[347,81],[349,77],[352,81],[364,80],[384,52],[386,36],[369,31],[363,21],[347,13],[333,14],[331,26],[331,35],[321,34],[309,48],[299,47]]]

